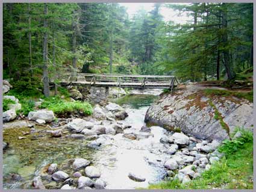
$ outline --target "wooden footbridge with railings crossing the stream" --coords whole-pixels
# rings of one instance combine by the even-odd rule
[[[130,88],[170,88],[178,84],[175,76],[169,75],[122,75],[95,73],[66,73],[61,78],[62,85],[82,85],[95,87]]]

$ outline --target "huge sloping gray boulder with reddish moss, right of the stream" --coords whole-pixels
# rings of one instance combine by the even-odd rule
[[[175,90],[172,94],[163,94],[151,105],[146,112],[145,122],[168,130],[180,128],[185,134],[203,140],[222,141],[229,138],[229,133],[236,126],[252,130],[254,118],[251,102],[235,97],[207,96],[205,87],[197,84],[184,86],[186,88]],[[222,127],[220,120],[214,118],[216,109],[229,131]]]

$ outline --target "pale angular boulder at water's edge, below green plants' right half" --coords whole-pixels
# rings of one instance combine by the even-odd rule
[[[81,132],[83,129],[92,129],[93,123],[77,118],[73,119],[72,122],[67,123],[67,128],[70,129],[70,131]]]

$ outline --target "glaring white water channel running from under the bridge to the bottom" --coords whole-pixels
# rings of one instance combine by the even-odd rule
[[[150,94],[133,94],[116,101],[129,114],[125,120],[120,121],[132,126],[125,129],[125,133],[139,133],[140,128],[145,125],[146,110],[157,98]],[[165,146],[160,143],[160,138],[167,132],[159,126],[153,126],[151,134],[151,137],[140,140],[130,140],[123,138],[122,134],[117,134],[113,136],[111,144],[93,153],[95,165],[101,169],[101,177],[107,181],[108,189],[148,187],[149,183],[163,179],[166,175],[163,163],[170,156],[163,153]],[[131,180],[128,178],[130,172],[143,176],[146,181]]]

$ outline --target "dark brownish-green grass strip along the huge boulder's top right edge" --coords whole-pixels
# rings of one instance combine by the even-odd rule
[[[204,90],[204,94],[206,94],[207,96],[223,96],[223,97],[234,96],[236,98],[247,99],[250,102],[254,101],[253,90],[249,92],[236,92],[236,91],[214,90],[214,89],[206,88]]]

